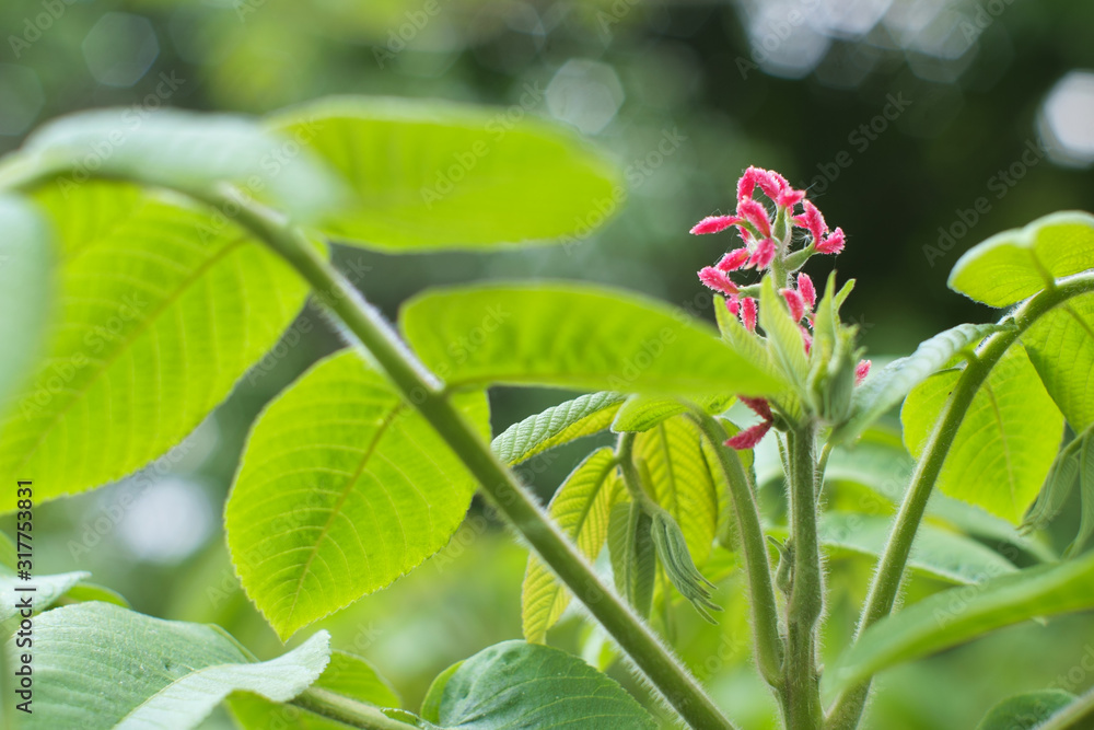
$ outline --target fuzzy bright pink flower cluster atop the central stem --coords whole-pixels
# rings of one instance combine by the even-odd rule
[[[753,197],[756,188],[775,204],[773,213]],[[780,220],[784,223],[781,229]],[[744,246],[725,254],[713,266],[703,267],[699,271],[699,280],[725,296],[730,313],[740,317],[748,332],[756,331],[756,300],[742,296],[742,287],[730,278],[732,271],[749,268],[763,271],[771,268],[777,256],[785,257],[790,253],[795,228],[810,235],[803,248],[805,257],[813,254],[838,254],[843,250],[846,239],[842,229],[828,229],[817,207],[805,199],[804,190],[795,190],[779,173],[759,167],[748,167],[737,181],[737,209],[734,215],[703,218],[695,224],[691,233],[719,233],[731,227],[736,227]],[[781,239],[777,237],[780,235],[777,230],[782,231]],[[793,268],[800,268],[804,264],[800,256],[795,256],[795,260]],[[806,274],[799,274],[792,283],[793,287],[783,287],[779,293],[787,301],[791,316],[802,331],[802,341],[808,354],[813,345],[811,329],[817,291]],[[863,360],[854,370],[856,383],[861,383],[869,372],[870,360]],[[770,404],[764,398],[742,397],[741,401],[763,420],[741,431],[726,441],[726,444],[734,449],[752,449],[770,430],[775,417]]]

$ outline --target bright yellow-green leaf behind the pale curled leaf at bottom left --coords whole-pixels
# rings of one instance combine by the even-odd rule
[[[376,707],[400,707],[392,685],[368,661],[345,651],[330,653],[330,663],[311,688],[328,690],[342,697]],[[299,707],[274,703],[252,693],[232,695],[228,705],[243,730],[342,730],[346,726],[304,712]]]

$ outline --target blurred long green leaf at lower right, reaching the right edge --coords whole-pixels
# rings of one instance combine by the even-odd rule
[[[1094,609],[1094,555],[955,588],[868,628],[833,669],[835,688],[852,687],[895,664],[927,657],[1036,616]]]

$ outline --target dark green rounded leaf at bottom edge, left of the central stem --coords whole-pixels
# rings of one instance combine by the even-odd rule
[[[565,651],[523,641],[463,662],[444,684],[437,721],[446,730],[655,727],[614,680]]]

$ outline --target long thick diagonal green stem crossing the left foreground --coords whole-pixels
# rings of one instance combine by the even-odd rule
[[[592,565],[544,513],[536,496],[498,461],[489,444],[451,404],[441,383],[401,343],[380,312],[364,301],[300,231],[270,211],[243,200],[232,188],[205,196],[203,201],[214,207],[231,204],[237,208],[237,222],[307,280],[315,296],[372,354],[407,402],[459,456],[499,511],[682,718],[702,730],[734,727],[650,627],[601,580]]]

